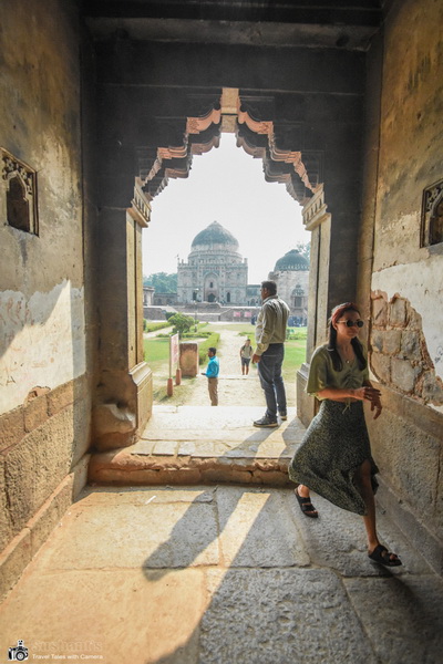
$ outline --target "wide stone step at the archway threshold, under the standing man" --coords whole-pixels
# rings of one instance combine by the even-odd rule
[[[288,465],[305,427],[296,408],[276,428],[257,428],[261,406],[154,406],[140,440],[93,455],[100,485],[243,484],[289,486]]]

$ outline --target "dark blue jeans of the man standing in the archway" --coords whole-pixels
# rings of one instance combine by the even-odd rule
[[[257,364],[261,387],[265,391],[267,406],[266,415],[270,419],[277,418],[277,408],[279,413],[286,413],[286,392],[284,378],[281,376],[284,357],[284,344],[271,343],[261,355],[260,362]]]

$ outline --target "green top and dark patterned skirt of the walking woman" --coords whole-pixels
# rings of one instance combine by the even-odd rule
[[[368,378],[368,369],[361,370],[357,359],[344,364],[342,371],[336,371],[327,345],[323,345],[312,355],[306,391],[317,394],[327,387],[357,388]],[[363,403],[322,400],[320,411],[290,463],[289,477],[342,509],[365,515],[364,501],[353,481],[356,470],[365,459],[372,466],[375,491],[374,475],[379,469],[371,455]]]

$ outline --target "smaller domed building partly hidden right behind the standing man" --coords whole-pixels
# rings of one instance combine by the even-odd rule
[[[305,324],[308,317],[309,260],[297,249],[278,259],[269,279],[277,283],[277,292],[291,310],[291,314]]]

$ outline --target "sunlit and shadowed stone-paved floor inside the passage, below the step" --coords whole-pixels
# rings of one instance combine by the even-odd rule
[[[90,488],[0,609],[0,661],[437,664],[443,584],[384,518],[403,568],[370,563],[361,519],[291,489]]]

